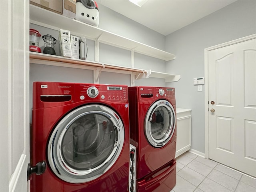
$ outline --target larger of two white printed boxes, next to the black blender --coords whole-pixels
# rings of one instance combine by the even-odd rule
[[[60,29],[59,44],[61,56],[72,57],[70,31]]]

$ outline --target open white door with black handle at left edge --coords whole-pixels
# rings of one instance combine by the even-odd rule
[[[28,191],[29,1],[0,0],[0,191]]]

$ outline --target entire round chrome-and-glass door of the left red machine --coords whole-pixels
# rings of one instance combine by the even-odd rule
[[[56,125],[48,143],[52,171],[70,183],[84,183],[104,174],[124,144],[124,126],[112,109],[86,105]]]

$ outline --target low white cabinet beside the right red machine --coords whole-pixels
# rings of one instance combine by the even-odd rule
[[[175,157],[178,157],[191,148],[191,110],[177,108],[176,118],[177,141]]]

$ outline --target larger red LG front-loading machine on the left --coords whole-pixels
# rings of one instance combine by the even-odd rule
[[[30,136],[30,192],[128,191],[127,86],[34,82]]]

